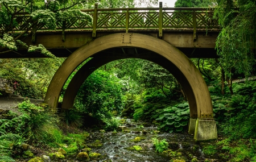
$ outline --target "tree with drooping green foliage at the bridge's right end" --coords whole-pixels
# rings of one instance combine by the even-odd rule
[[[256,48],[256,1],[217,0],[215,16],[222,28],[216,41],[220,64],[229,78],[232,92],[232,76],[253,72]]]

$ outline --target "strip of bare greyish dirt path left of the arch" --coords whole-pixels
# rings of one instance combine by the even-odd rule
[[[19,103],[22,103],[24,99],[30,99],[31,103],[40,103],[43,102],[43,99],[31,99],[31,98],[23,98],[23,97],[0,97],[0,109],[3,110],[12,110]]]

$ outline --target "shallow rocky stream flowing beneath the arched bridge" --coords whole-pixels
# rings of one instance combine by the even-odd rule
[[[144,127],[141,126],[143,124]],[[96,140],[100,140],[102,147],[91,147],[92,152],[100,153],[102,156],[97,160],[99,162],[153,162],[153,161],[170,161],[185,160],[191,161],[196,157],[199,161],[224,161],[218,157],[207,157],[201,151],[200,143],[193,140],[193,135],[175,134],[157,131],[158,128],[151,124],[133,122],[131,119],[126,119],[123,124],[124,131],[113,134],[112,132],[88,131],[88,146]],[[140,137],[140,142],[133,142],[136,137]],[[155,152],[152,138],[160,140],[166,139],[170,148],[167,153]],[[130,151],[127,148],[133,146],[141,146],[142,151]],[[72,159],[69,157],[68,159]],[[68,160],[69,161],[69,160]],[[226,160],[225,160],[226,161]]]

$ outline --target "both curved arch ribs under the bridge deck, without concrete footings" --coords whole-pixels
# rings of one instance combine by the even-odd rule
[[[160,57],[150,56],[143,57],[142,59],[152,61],[161,65],[163,68],[166,68],[174,75],[177,81],[180,82],[184,89],[184,93],[187,95],[192,118],[213,118],[209,90],[195,65],[193,65],[184,53],[180,52],[179,49],[173,47],[166,41],[142,34],[131,34],[131,43],[123,43],[123,34],[102,36],[73,52],[57,70],[49,84],[45,98],[45,102],[48,103],[49,107],[57,107],[60,91],[63,88],[65,81],[73,70],[75,70],[84,60],[106,49],[118,47],[142,48],[153,53],[158,53]],[[77,72],[78,77],[72,79],[69,85],[71,88],[67,89],[64,96],[63,108],[69,109],[72,107],[73,99],[75,98],[79,87],[86,77],[93,72],[93,69],[95,70],[110,61],[121,58],[123,57],[94,57],[92,60],[88,61],[88,63]],[[139,58],[139,56],[137,58]]]

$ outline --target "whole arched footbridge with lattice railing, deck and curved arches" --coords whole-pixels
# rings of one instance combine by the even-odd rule
[[[196,140],[217,138],[209,90],[199,70],[188,57],[217,57],[215,41],[220,31],[212,9],[158,8],[82,10],[93,22],[79,18],[57,22],[56,30],[30,22],[31,32],[23,41],[43,44],[53,55],[67,57],[49,84],[45,97],[56,108],[59,95],[70,74],[92,57],[72,78],[64,94],[62,109],[71,109],[82,82],[94,70],[118,59],[140,58],[170,71],[187,95],[191,119],[189,134]],[[26,30],[30,16],[18,15],[14,32]],[[3,29],[3,27],[2,27]],[[45,57],[26,49],[4,53],[1,58]]]

